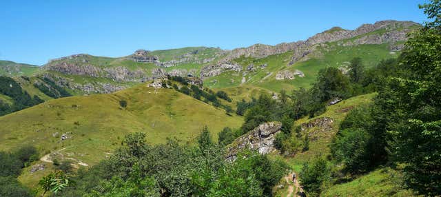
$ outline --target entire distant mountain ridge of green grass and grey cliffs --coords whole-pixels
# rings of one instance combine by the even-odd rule
[[[213,88],[251,85],[278,92],[309,87],[318,70],[326,66],[344,70],[355,56],[360,56],[367,66],[394,58],[407,40],[407,33],[416,28],[420,24],[410,21],[378,21],[356,30],[334,27],[306,41],[278,45],[256,44],[234,50],[136,50],[119,58],[75,54],[54,59],[41,69],[21,70],[26,75],[51,79],[79,95],[111,93],[166,75],[198,76]],[[20,70],[8,67],[14,69]]]

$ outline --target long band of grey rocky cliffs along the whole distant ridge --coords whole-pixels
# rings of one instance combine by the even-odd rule
[[[59,83],[67,83],[69,84],[68,87],[79,88],[84,92],[103,93],[125,87],[125,85],[115,85],[115,83],[141,83],[160,79],[167,75],[209,78],[223,72],[233,71],[236,73],[243,72],[242,74],[245,76],[248,72],[256,72],[259,65],[249,63],[240,65],[236,59],[241,56],[261,59],[269,55],[291,51],[292,55],[287,58],[290,65],[297,61],[305,61],[311,57],[320,56],[322,50],[329,48],[329,45],[327,45],[329,42],[342,46],[387,43],[390,50],[401,50],[402,41],[407,39],[407,33],[416,26],[418,26],[418,23],[409,21],[379,21],[373,24],[361,25],[356,30],[331,28],[310,37],[306,41],[280,43],[278,45],[256,44],[248,48],[237,48],[230,51],[204,47],[152,52],[136,50],[133,54],[121,58],[75,54],[52,60],[43,66],[43,70],[51,74],[61,73],[58,77],[68,79]],[[263,65],[260,65],[260,68],[266,67],[266,64]],[[268,72],[267,74],[270,75],[271,73]],[[91,76],[92,78],[104,80],[99,83],[74,83],[71,80],[74,79],[74,76]],[[275,77],[276,80],[291,80],[296,76],[302,77],[305,75],[301,71],[279,71],[276,72]],[[247,79],[244,78],[243,83],[246,81]]]

